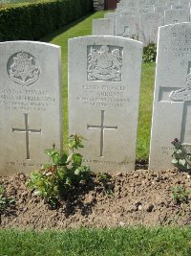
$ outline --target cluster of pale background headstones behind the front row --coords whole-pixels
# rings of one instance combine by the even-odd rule
[[[189,1],[187,4],[183,2],[182,8],[178,6],[180,1],[164,2],[164,6],[159,6],[161,1],[157,1],[154,6],[154,1],[124,0],[122,4],[120,1],[121,6],[116,12],[107,12],[103,19],[93,20],[93,35],[117,35],[138,39],[144,45],[156,44],[160,26],[190,20]],[[140,12],[143,7],[147,7],[145,12]]]

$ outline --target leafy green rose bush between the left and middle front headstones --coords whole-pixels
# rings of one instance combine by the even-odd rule
[[[82,155],[74,152],[74,150],[83,148],[82,140],[82,136],[71,135],[69,137],[68,147],[71,153],[57,151],[55,145],[52,149],[45,151],[52,162],[45,164],[40,170],[33,171],[28,180],[28,186],[34,190],[34,196],[41,196],[45,202],[56,207],[69,188],[90,178],[90,169],[81,166]]]

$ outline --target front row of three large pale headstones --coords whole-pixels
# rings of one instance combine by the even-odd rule
[[[159,28],[150,165],[171,166],[171,140],[190,150],[191,23]],[[69,132],[85,137],[84,162],[96,172],[133,170],[142,43],[119,36],[69,40]],[[0,174],[29,172],[62,148],[60,47],[0,43]],[[77,61],[76,61],[77,60]]]

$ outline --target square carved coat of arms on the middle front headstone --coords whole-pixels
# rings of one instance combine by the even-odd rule
[[[121,81],[122,47],[88,46],[88,81]]]

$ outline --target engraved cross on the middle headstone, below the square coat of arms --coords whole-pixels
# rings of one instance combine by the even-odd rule
[[[87,128],[100,128],[100,156],[103,156],[104,148],[104,131],[105,129],[117,129],[117,127],[106,127],[104,126],[105,110],[101,110],[101,125],[100,126],[90,126],[87,125]]]

